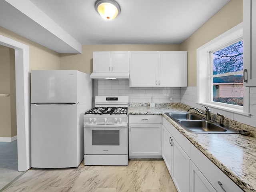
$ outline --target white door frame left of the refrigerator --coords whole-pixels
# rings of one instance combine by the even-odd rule
[[[29,49],[2,35],[0,44],[15,50],[18,171],[26,171],[31,168]]]

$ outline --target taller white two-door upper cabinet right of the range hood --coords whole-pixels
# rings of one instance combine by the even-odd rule
[[[187,86],[187,52],[130,52],[130,87]]]

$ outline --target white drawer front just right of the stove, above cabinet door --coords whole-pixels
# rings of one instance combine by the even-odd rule
[[[162,115],[129,115],[129,124],[162,124]]]

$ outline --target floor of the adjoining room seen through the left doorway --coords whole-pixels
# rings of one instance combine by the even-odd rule
[[[22,172],[18,172],[17,140],[0,142],[0,191],[20,174]]]

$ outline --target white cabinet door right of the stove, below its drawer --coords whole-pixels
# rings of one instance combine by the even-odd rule
[[[162,124],[130,124],[129,155],[161,156]]]

